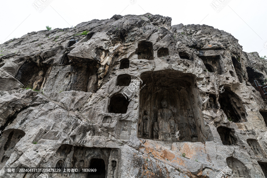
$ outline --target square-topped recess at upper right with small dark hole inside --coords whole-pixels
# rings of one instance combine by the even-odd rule
[[[198,56],[202,59],[206,69],[209,72],[214,72],[215,74],[222,74],[222,68],[220,64],[220,55],[215,56]]]

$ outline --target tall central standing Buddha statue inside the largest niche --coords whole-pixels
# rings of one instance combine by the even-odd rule
[[[161,101],[161,109],[158,110],[158,139],[166,139],[171,135],[175,136],[175,122],[171,109],[167,108],[167,101]]]

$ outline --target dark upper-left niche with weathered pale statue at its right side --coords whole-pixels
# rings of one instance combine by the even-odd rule
[[[34,90],[40,90],[48,67],[48,65],[38,66],[37,63],[27,60],[20,66],[15,78],[18,79],[24,87],[32,87]]]

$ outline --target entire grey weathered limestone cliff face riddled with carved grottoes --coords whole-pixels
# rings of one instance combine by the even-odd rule
[[[214,178],[228,166],[228,177],[266,178],[267,104],[257,87],[266,66],[229,33],[149,13],[9,40],[0,177]]]

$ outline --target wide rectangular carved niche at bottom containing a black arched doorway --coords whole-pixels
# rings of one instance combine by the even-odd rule
[[[64,144],[55,155],[55,167],[96,169],[96,172],[79,174],[79,178],[118,178],[120,177],[120,149],[91,148]],[[76,174],[62,173],[63,177],[77,177]]]

